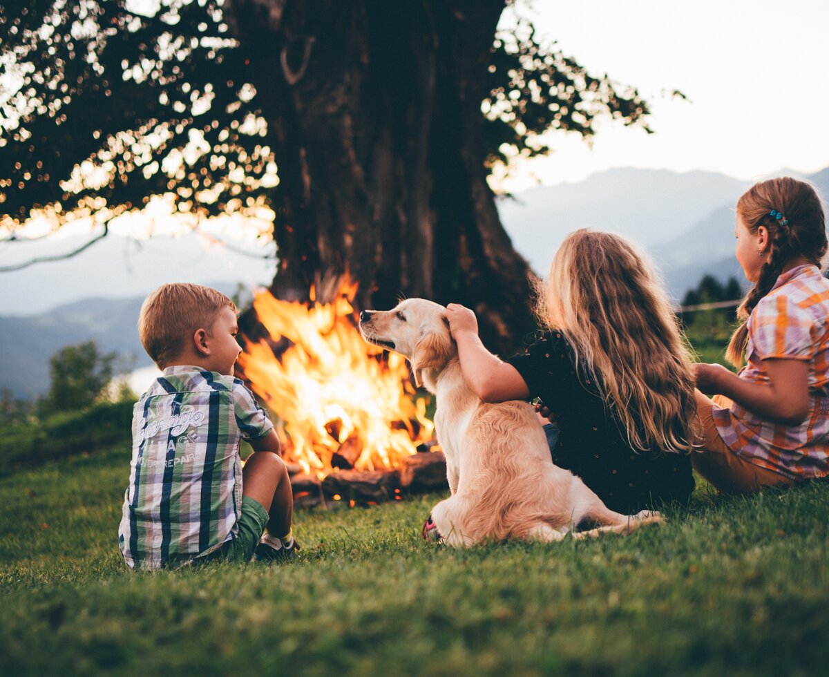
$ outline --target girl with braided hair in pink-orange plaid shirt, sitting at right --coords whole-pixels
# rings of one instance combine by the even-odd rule
[[[803,181],[756,184],[737,202],[736,256],[754,283],[720,365],[694,365],[697,471],[747,493],[829,474],[829,280],[820,197]],[[713,400],[704,394],[715,394]]]

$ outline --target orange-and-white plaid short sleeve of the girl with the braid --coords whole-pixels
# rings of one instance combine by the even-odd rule
[[[760,299],[749,318],[749,336],[760,360],[811,360],[814,320],[785,294]]]

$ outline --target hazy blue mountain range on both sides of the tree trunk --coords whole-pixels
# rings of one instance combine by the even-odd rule
[[[798,176],[795,172],[779,173]],[[805,178],[823,196],[829,196],[829,167]],[[539,186],[501,198],[498,208],[514,246],[537,273],[547,273],[555,250],[570,230],[583,226],[610,230],[638,241],[648,250],[678,301],[705,274],[720,281],[734,275],[745,283],[734,259],[734,202],[750,183],[713,172],[613,169],[580,183]],[[164,265],[167,261],[180,264],[186,244],[186,240],[177,243],[162,239],[144,244],[143,254],[120,254],[122,267],[128,263],[136,273],[142,273],[133,275],[128,283],[121,281],[120,287],[114,281],[110,283],[118,268],[117,263],[113,264],[112,250],[124,245],[107,239],[87,249],[84,259],[70,259],[71,264],[61,262],[71,268],[43,264],[41,271],[48,270],[50,275],[45,287],[50,290],[48,298],[31,289],[42,272],[28,268],[0,274],[3,297],[8,299],[14,294],[17,307],[43,309],[0,315],[2,387],[17,397],[43,393],[49,384],[49,357],[63,346],[90,339],[104,352],[116,351],[127,359],[132,356],[135,368],[151,365],[138,341],[138,310],[148,291],[158,283],[174,281],[159,278],[158,271],[170,268],[170,264]],[[187,246],[191,247],[187,255],[193,259],[193,272],[177,273],[194,282],[210,283],[191,275],[217,273],[218,267],[205,265],[199,258],[203,254],[196,256],[192,243]],[[221,253],[214,253],[218,256]],[[225,253],[225,257],[231,258],[232,252]],[[149,263],[144,271],[145,261]],[[257,277],[267,282],[268,271],[259,262],[240,259],[236,265],[250,273],[253,263],[259,268]],[[232,274],[225,271],[225,277],[212,281],[213,286],[225,293],[238,291],[230,281]],[[90,280],[91,286],[81,284]],[[90,293],[90,288],[97,293]],[[27,291],[37,302],[22,302]],[[61,302],[73,294],[75,300]],[[49,299],[57,307],[49,307]]]

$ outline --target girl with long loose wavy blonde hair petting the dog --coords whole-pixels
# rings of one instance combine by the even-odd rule
[[[470,387],[485,402],[540,398],[559,428],[553,461],[612,510],[688,500],[694,377],[652,267],[618,235],[577,230],[540,291],[546,331],[506,362],[482,345],[472,311],[447,307]]]

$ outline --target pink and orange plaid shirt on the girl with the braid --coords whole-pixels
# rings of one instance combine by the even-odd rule
[[[739,457],[788,477],[829,474],[829,280],[814,265],[783,273],[749,317],[746,365],[739,378],[765,383],[763,360],[809,363],[810,413],[796,426],[764,421],[715,398],[714,422]]]

